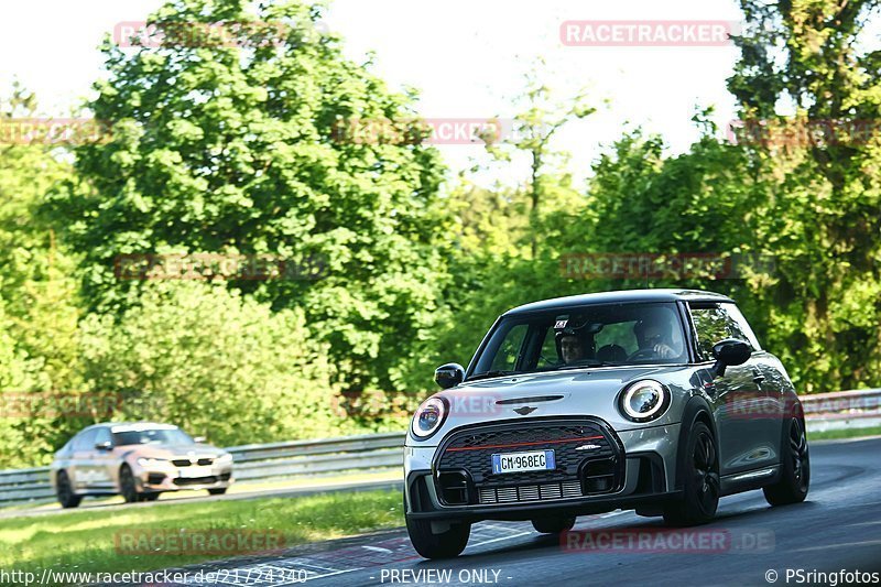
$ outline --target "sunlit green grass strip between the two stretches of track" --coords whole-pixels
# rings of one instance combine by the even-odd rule
[[[400,491],[323,493],[302,498],[218,500],[72,511],[0,520],[0,568],[34,572],[127,572],[178,567],[232,554],[122,554],[118,532],[137,530],[273,531],[284,545],[330,540],[403,525]]]

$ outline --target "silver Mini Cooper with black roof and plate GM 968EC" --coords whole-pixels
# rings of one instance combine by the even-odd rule
[[[730,298],[700,291],[588,294],[500,316],[467,369],[407,434],[404,508],[427,558],[458,555],[471,524],[632,509],[707,522],[719,498],[807,496],[802,405]]]

